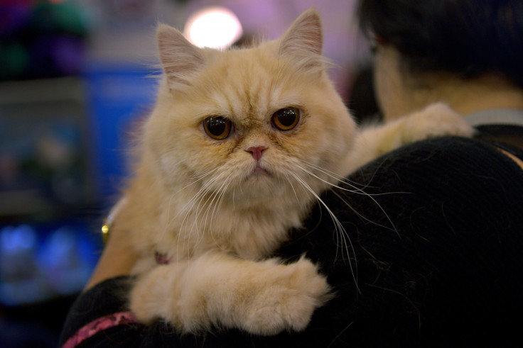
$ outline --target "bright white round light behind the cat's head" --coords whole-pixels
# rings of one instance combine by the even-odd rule
[[[209,7],[190,16],[183,33],[198,47],[223,50],[236,42],[243,30],[232,11],[224,7]]]

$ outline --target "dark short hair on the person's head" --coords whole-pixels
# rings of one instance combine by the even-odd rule
[[[360,0],[357,15],[413,72],[495,72],[523,88],[523,0]]]

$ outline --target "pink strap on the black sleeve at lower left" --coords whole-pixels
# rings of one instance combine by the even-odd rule
[[[72,337],[70,337],[67,342],[63,344],[62,348],[76,347],[78,344],[85,341],[85,339],[96,335],[100,331],[107,330],[118,325],[127,325],[134,322],[138,322],[138,320],[136,320],[133,313],[131,312],[120,312],[106,315],[102,318],[93,320],[87,325],[84,325],[75,333],[75,335],[72,335]]]

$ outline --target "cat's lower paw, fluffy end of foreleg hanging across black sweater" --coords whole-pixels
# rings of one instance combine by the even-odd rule
[[[308,259],[302,257],[278,271],[271,286],[259,291],[247,306],[244,330],[258,335],[304,330],[313,311],[330,298],[325,277]]]

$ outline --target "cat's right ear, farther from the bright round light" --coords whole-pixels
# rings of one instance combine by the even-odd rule
[[[294,57],[308,67],[323,68],[323,35],[320,15],[315,9],[301,13],[280,38],[280,55]]]

